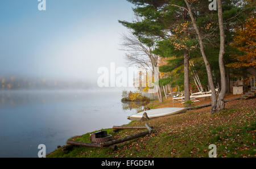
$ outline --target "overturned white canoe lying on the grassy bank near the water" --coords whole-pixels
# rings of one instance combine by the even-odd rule
[[[175,115],[178,113],[185,113],[187,112],[187,108],[167,107],[167,108],[151,109],[149,111],[143,111],[135,115],[131,115],[128,117],[128,119],[140,120],[145,112],[147,113],[148,118],[152,119],[156,117],[163,117],[163,116]]]

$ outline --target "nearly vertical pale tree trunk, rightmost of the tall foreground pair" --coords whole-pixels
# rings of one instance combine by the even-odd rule
[[[218,4],[218,25],[220,27],[220,54],[218,56],[218,64],[220,66],[220,73],[221,73],[221,91],[220,95],[218,95],[217,101],[217,112],[221,111],[225,108],[224,98],[226,95],[226,73],[225,73],[225,66],[223,61],[223,56],[225,53],[225,32],[223,26],[223,16],[222,16],[222,1],[217,0]]]

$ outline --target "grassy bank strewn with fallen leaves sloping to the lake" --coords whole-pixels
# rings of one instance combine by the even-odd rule
[[[234,100],[226,103],[225,111],[216,115],[210,115],[209,108],[202,108],[149,120],[148,124],[155,127],[155,133],[119,143],[117,150],[109,147],[73,147],[72,150],[62,151],[60,147],[47,157],[208,157],[210,144],[217,146],[217,157],[256,157],[255,103],[256,99]],[[150,103],[150,106],[161,107],[156,103]],[[144,125],[144,122],[131,121],[127,125]],[[115,138],[142,132],[119,130],[114,133],[112,129],[104,130]],[[90,142],[89,134],[70,140]]]

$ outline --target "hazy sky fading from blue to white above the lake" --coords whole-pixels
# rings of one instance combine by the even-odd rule
[[[97,81],[100,66],[125,66],[118,50],[133,20],[126,0],[0,1],[0,75]]]

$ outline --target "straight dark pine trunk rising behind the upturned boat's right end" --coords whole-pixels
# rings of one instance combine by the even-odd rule
[[[184,97],[185,102],[190,100],[189,94],[189,58],[187,50],[184,50]]]

